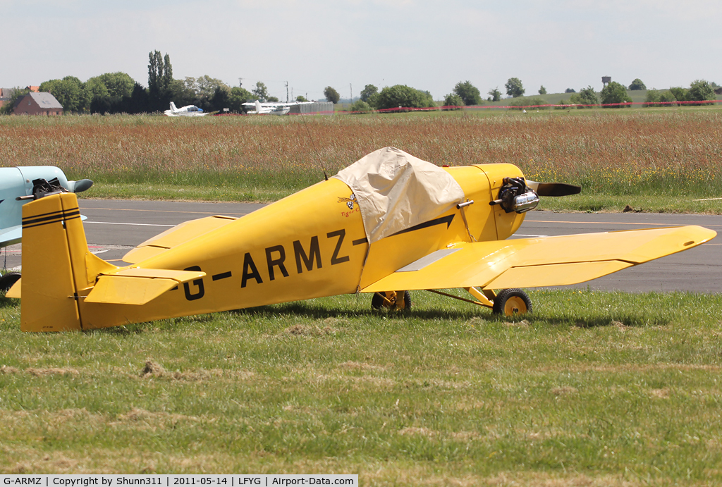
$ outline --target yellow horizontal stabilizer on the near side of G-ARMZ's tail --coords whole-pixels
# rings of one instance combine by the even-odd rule
[[[205,276],[201,271],[167,269],[123,269],[101,274],[97,284],[85,298],[87,303],[146,304],[178,284]]]

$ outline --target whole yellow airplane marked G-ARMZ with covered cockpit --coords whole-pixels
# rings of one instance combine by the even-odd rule
[[[578,192],[525,180],[512,164],[442,168],[387,147],[241,218],[180,224],[116,267],[88,251],[77,199],[58,188],[22,207],[22,278],[6,295],[22,299],[25,331],[357,292],[407,309],[414,289],[463,288],[464,300],[512,315],[531,311],[520,287],[588,281],[716,235],[690,226],[507,240],[539,195]]]

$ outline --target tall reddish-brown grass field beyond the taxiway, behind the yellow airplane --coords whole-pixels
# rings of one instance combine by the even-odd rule
[[[0,164],[97,183],[295,190],[383,146],[435,164],[516,164],[586,193],[718,195],[722,113],[0,118]]]

